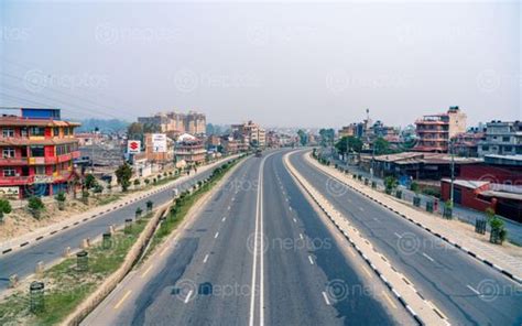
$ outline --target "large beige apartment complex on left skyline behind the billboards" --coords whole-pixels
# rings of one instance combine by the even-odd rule
[[[139,117],[138,122],[153,126],[157,132],[177,134],[205,134],[207,126],[205,115],[195,111],[188,111],[188,113],[159,112],[152,117]]]

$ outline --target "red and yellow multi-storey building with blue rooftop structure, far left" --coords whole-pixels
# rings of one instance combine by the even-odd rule
[[[20,109],[0,117],[0,193],[25,198],[68,191],[78,177],[73,160],[80,156],[76,122],[59,109]]]

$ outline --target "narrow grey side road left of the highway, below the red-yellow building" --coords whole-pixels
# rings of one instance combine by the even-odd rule
[[[165,191],[122,206],[116,210],[105,213],[98,218],[61,231],[53,237],[44,238],[24,249],[1,256],[0,292],[9,286],[10,275],[18,274],[20,279],[24,279],[34,273],[37,262],[43,261],[44,264],[47,264],[56,261],[61,258],[65,248],[70,247],[73,250],[78,249],[83,239],[95,239],[104,232],[107,232],[110,225],[120,226],[124,224],[126,218],[133,218],[138,207],[145,210],[145,203],[148,200],[152,200],[155,206],[160,206],[172,198],[173,188],[178,188],[180,191],[189,188],[198,181],[208,177],[211,172],[213,169],[209,169],[208,171],[193,175],[189,180],[175,184]]]

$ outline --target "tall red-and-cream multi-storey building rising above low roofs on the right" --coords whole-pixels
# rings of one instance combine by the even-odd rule
[[[415,151],[447,153],[449,140],[466,132],[466,115],[458,107],[450,107],[446,113],[424,116],[415,124]]]

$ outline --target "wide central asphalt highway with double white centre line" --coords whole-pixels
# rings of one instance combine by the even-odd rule
[[[283,153],[238,166],[175,241],[83,324],[413,324],[322,221]]]

